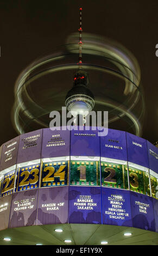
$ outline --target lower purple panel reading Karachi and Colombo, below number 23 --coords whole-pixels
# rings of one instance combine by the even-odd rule
[[[9,228],[36,224],[37,192],[38,190],[35,189],[12,195]]]

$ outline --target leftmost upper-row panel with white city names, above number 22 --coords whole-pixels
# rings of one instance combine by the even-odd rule
[[[1,157],[2,170],[16,164],[19,137],[20,136],[11,139],[10,141],[3,144]]]

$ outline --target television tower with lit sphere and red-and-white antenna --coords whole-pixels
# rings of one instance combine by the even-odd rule
[[[71,114],[75,117],[78,115],[83,115],[83,118],[89,114],[94,107],[94,96],[90,89],[87,88],[88,75],[87,72],[82,69],[82,31],[81,28],[81,14],[82,8],[80,10],[80,20],[79,20],[79,63],[78,71],[74,74],[74,84],[73,88],[69,90],[66,95],[65,105]],[[74,119],[74,123],[75,120]],[[84,119],[85,122],[85,119]]]

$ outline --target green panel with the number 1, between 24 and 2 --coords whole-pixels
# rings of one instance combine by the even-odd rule
[[[100,161],[71,160],[70,185],[100,186]]]

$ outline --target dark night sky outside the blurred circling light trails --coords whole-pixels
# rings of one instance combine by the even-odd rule
[[[118,41],[138,60],[146,102],[142,137],[151,143],[158,140],[157,0],[0,0],[0,144],[17,136],[11,109],[18,75],[34,59],[64,45],[69,34],[78,32],[80,7],[84,32]]]

